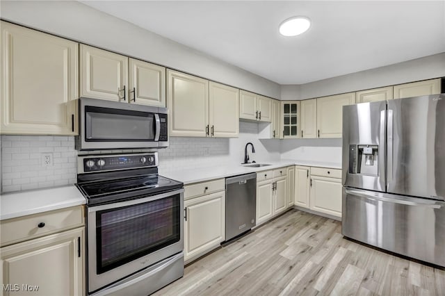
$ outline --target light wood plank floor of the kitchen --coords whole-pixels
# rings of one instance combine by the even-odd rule
[[[188,265],[155,295],[445,295],[445,271],[346,240],[341,222],[291,210]]]

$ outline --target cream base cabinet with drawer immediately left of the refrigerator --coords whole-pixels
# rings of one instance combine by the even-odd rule
[[[341,217],[341,170],[311,168],[309,208]]]

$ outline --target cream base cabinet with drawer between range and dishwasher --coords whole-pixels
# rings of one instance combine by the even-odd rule
[[[224,186],[225,180],[219,179],[185,187],[185,263],[219,247],[220,243],[225,240]],[[204,192],[213,193],[204,194]]]

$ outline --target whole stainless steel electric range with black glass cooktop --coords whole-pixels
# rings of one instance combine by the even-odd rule
[[[157,152],[79,156],[88,295],[149,295],[184,275],[184,184]]]

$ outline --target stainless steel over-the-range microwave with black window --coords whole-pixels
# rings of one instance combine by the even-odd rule
[[[167,108],[80,98],[76,149],[168,147],[167,116]]]

